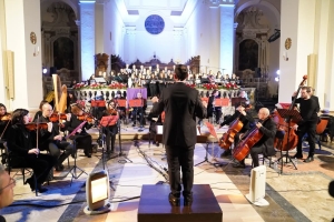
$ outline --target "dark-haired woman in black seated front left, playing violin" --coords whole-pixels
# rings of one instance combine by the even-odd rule
[[[46,192],[42,188],[50,170],[57,160],[52,155],[39,153],[37,148],[36,131],[29,131],[26,124],[29,122],[29,111],[17,109],[12,113],[12,125],[9,130],[8,149],[10,151],[10,165],[14,168],[32,168],[37,178],[37,188],[35,186],[33,175],[26,182],[30,189],[38,192]]]

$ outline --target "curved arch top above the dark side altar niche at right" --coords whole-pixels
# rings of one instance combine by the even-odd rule
[[[237,17],[239,16],[239,13],[248,8],[255,6],[259,9],[263,9],[264,11],[269,10],[271,12],[273,12],[272,14],[265,14],[267,18],[271,19],[271,22],[273,22],[274,27],[276,26],[276,28],[281,28],[281,13],[279,11],[269,2],[266,1],[258,1],[258,0],[250,0],[247,1],[245,3],[243,3],[242,6],[239,6],[236,11],[235,11],[235,16],[234,16],[234,20],[236,21]]]

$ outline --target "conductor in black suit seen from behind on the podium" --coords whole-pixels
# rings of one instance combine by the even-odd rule
[[[153,114],[165,111],[164,141],[167,152],[169,175],[169,202],[179,205],[180,167],[183,171],[184,205],[193,203],[194,149],[196,144],[196,117],[206,117],[206,102],[202,102],[197,90],[187,87],[183,81],[187,78],[186,65],[178,64],[174,78],[176,83],[165,89],[160,99],[153,98]]]

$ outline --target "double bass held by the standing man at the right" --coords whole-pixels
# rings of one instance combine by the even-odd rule
[[[294,109],[295,99],[297,98],[297,94],[299,93],[301,88],[305,84],[306,80],[307,80],[307,75],[304,75],[303,81],[299,83],[296,97],[294,98],[293,102],[291,103],[288,110]],[[297,124],[297,122],[294,122],[293,120],[291,120],[291,122],[288,123],[288,120],[285,120],[284,118],[282,118],[278,114],[277,110],[273,114],[274,114],[274,121],[277,123],[277,130],[281,130],[281,131],[283,130],[285,132],[283,140],[275,138],[274,147],[277,149],[279,147],[279,150],[282,150],[282,151],[292,150],[295,147],[297,147],[298,135],[296,134],[296,132],[294,130],[292,130],[293,127],[295,124]]]

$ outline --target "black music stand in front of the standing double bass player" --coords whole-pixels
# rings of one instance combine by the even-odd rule
[[[277,109],[277,112],[282,118],[287,120],[287,143],[286,143],[286,145],[288,145],[289,144],[291,120],[294,120],[295,122],[298,122],[298,121],[302,120],[302,117],[301,117],[299,112],[296,111],[296,110]],[[282,142],[282,143],[284,143],[284,142]],[[292,164],[295,167],[295,169],[298,170],[297,167],[295,165],[294,161],[292,161],[291,157],[288,155],[289,148],[287,148],[285,154],[283,154],[282,145],[281,145],[281,158],[277,159],[277,162],[279,162],[282,160],[282,162],[281,162],[281,174],[283,173],[283,158],[284,157],[286,158],[285,163],[287,163],[287,159],[288,159],[289,162],[292,162]]]

